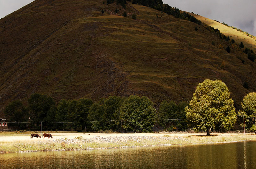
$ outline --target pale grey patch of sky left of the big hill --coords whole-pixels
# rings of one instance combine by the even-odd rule
[[[17,11],[32,1],[33,0],[0,0],[0,18]]]

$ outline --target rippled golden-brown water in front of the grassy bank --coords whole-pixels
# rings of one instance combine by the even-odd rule
[[[5,168],[256,168],[256,142],[0,154]]]

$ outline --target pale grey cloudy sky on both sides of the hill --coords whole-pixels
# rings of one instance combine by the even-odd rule
[[[0,18],[33,0],[0,0]],[[182,11],[225,22],[256,36],[256,0],[163,0]]]

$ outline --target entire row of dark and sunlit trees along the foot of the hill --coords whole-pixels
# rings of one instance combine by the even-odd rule
[[[47,121],[49,123],[44,124],[46,130],[120,132],[120,120],[124,120],[125,132],[185,131],[193,128],[196,132],[206,131],[208,136],[213,130],[229,131],[237,115],[245,115],[245,128],[256,133],[256,93],[246,95],[241,105],[242,109],[236,113],[225,83],[206,79],[198,84],[189,103],[176,104],[164,100],[158,111],[146,96],[110,96],[97,102],[87,98],[62,99],[56,104],[52,97],[34,93],[29,97],[27,106],[20,100],[12,101],[4,109],[4,114],[8,122]],[[31,128],[36,126],[39,127],[38,123],[31,123]]]

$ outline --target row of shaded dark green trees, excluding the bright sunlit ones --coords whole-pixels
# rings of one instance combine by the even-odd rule
[[[28,98],[27,106],[20,100],[12,101],[4,109],[4,114],[8,122],[20,123],[18,127],[22,129],[28,128],[26,124],[22,125],[23,122],[31,123],[30,128],[39,128],[39,123],[33,122],[43,121],[52,122],[44,123],[46,130],[121,131],[120,120],[126,119],[123,129],[127,132],[151,132],[153,126],[166,131],[184,131],[187,129],[185,120],[158,122],[155,120],[185,119],[184,108],[187,105],[187,102],[176,105],[173,101],[164,100],[156,113],[153,102],[146,96],[110,96],[101,98],[97,102],[87,98],[62,99],[56,104],[52,97],[34,93]]]

